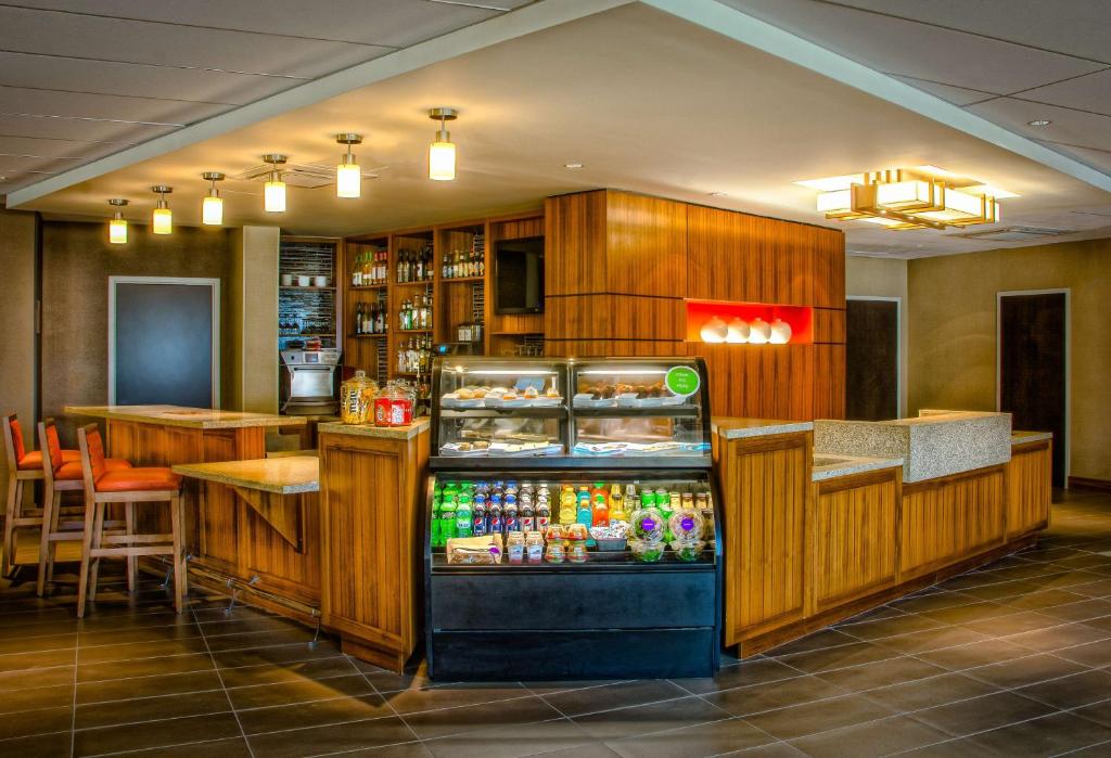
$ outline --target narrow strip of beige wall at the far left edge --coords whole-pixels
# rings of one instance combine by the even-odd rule
[[[0,210],[0,411],[14,411],[28,449],[34,442],[34,245],[38,218]],[[2,453],[0,453],[2,455]],[[7,493],[8,469],[0,465],[0,492]]]

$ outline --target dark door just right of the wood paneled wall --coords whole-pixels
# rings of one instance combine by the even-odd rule
[[[845,418],[899,417],[899,300],[845,303]]]

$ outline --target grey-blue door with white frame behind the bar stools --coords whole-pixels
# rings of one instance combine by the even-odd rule
[[[219,407],[219,287],[211,279],[109,279],[109,403]]]

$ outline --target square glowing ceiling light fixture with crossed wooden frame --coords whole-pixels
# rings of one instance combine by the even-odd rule
[[[868,221],[892,230],[998,223],[999,198],[1018,196],[933,165],[808,179],[795,184],[819,190],[817,206],[827,219]]]

